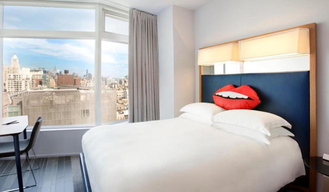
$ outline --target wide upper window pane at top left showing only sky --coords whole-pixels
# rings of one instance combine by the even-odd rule
[[[95,31],[95,10],[4,6],[3,29]]]

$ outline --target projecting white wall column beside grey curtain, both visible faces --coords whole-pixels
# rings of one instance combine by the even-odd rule
[[[194,12],[169,6],[157,16],[160,119],[194,103]]]

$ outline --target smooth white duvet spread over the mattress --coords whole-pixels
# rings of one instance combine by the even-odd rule
[[[267,145],[183,118],[97,126],[82,148],[93,192],[277,192],[305,175],[290,137]]]

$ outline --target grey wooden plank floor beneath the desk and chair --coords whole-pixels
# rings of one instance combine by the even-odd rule
[[[38,158],[40,168],[33,170],[37,186],[25,189],[24,192],[73,192],[71,157]],[[38,167],[35,158],[30,159],[32,168]],[[21,159],[22,171],[28,167],[27,160]],[[16,173],[15,160],[0,160],[0,175]],[[30,171],[22,173],[23,185],[33,185]],[[17,175],[0,176],[0,192],[18,188]]]

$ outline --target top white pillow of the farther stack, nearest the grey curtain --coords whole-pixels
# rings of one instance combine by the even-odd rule
[[[212,120],[214,115],[226,111],[226,109],[223,109],[222,107],[210,103],[194,103],[185,105],[183,108],[180,109],[180,111],[193,113],[195,115],[199,115],[208,118],[209,120]]]

